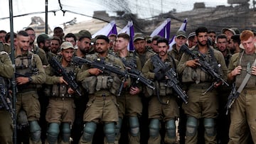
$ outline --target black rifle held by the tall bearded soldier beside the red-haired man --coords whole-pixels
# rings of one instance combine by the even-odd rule
[[[192,52],[191,50],[188,49],[188,47],[186,45],[181,45],[180,50],[183,51],[183,52],[186,52],[186,54],[188,54],[188,55],[191,55],[193,60],[198,60],[198,63],[200,64],[201,69],[204,72],[207,72],[208,74],[210,74],[210,76],[212,76],[216,80],[217,83],[218,82],[223,82],[223,84],[229,86],[229,84],[227,82],[225,82],[225,80],[222,79],[217,72],[215,72],[213,67],[210,67],[210,64],[208,62],[206,62],[206,56],[205,55],[201,54],[200,52],[196,52],[196,53]],[[206,89],[206,92],[203,92],[203,94],[206,94],[211,89],[213,89],[216,82],[213,82],[213,84],[211,84],[210,87],[208,89]]]

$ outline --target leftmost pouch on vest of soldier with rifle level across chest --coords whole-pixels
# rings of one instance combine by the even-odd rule
[[[82,81],[82,87],[87,90],[88,94],[95,93],[96,84],[97,84],[97,77],[95,76],[86,77]]]

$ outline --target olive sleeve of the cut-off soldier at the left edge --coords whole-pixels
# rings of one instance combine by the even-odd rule
[[[14,67],[7,53],[0,54],[0,75],[11,79],[14,74]]]

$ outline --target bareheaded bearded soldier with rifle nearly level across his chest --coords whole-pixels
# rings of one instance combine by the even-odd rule
[[[87,55],[88,60],[103,59],[109,65],[119,65],[124,70],[122,61],[108,54],[110,40],[105,35],[97,35],[97,54]],[[102,70],[82,65],[78,72],[78,82],[82,82],[89,93],[89,101],[85,110],[85,128],[80,143],[92,143],[97,123],[104,123],[107,143],[114,143],[115,124],[118,121],[116,94],[121,79],[116,74],[106,74]],[[125,85],[125,84],[124,84]]]

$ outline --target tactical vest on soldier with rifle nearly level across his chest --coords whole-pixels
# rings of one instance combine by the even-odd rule
[[[89,60],[97,59],[97,54],[87,55]],[[108,55],[108,59],[104,60],[106,65],[115,65],[116,57],[114,55]],[[97,76],[86,77],[82,82],[82,87],[87,89],[88,94],[94,94],[100,91],[109,91],[110,93],[117,95],[119,86],[122,84],[121,79],[117,74],[99,74]]]

